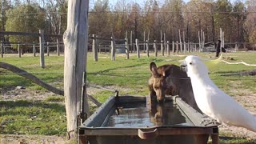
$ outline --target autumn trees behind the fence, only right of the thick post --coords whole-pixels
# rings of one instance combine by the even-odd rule
[[[198,30],[203,30],[206,42],[211,42],[218,40],[222,28],[226,42],[256,42],[255,10],[255,0],[119,0],[114,6],[108,0],[97,0],[90,10],[90,34],[125,38],[126,30],[129,34],[132,30],[134,38],[141,40],[144,35],[151,41],[160,40],[166,34],[176,42],[181,30],[186,42],[198,42]]]

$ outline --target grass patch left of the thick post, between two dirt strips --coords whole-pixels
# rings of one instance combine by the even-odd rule
[[[0,102],[1,134],[65,134],[65,106],[26,100]]]

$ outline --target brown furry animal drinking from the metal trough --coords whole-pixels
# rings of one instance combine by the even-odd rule
[[[151,77],[148,82],[150,98],[163,102],[165,95],[178,95],[183,101],[199,110],[195,100],[190,82],[186,72],[180,66],[163,65],[157,67],[154,62],[150,63]]]

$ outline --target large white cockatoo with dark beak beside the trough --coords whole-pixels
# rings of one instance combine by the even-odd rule
[[[202,58],[187,56],[182,67],[191,79],[195,101],[200,110],[217,122],[244,127],[256,132],[256,118],[211,81]]]

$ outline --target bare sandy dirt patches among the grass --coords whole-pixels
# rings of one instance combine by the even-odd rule
[[[231,84],[232,85],[232,84]],[[250,92],[250,90],[238,90],[235,89],[235,86],[232,88],[233,95],[240,94],[239,96],[234,96],[234,98],[243,106],[246,107],[246,110],[249,110],[251,114],[256,114],[256,94]],[[88,93],[93,93],[93,89],[87,89]],[[243,94],[243,95],[241,95]],[[52,95],[50,92],[40,93],[39,91],[26,90],[26,89],[14,89],[14,90],[2,90],[0,94],[1,100],[22,100],[22,99],[30,99],[30,100],[43,100],[48,96]],[[244,128],[238,128],[234,126],[219,126],[219,130],[221,132],[227,132],[232,135],[232,137],[237,138],[249,138],[255,139],[256,142],[256,134],[251,132],[250,130],[246,130]],[[33,144],[63,144],[66,142],[66,138],[53,135],[14,135],[14,134],[1,134],[0,135],[0,143],[1,144],[9,144],[9,143],[33,143]]]

